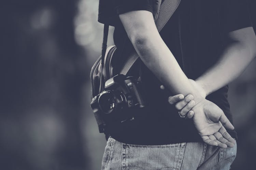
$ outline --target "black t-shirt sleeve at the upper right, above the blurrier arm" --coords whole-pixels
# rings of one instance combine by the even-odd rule
[[[248,0],[224,0],[222,28],[224,33],[251,27]]]

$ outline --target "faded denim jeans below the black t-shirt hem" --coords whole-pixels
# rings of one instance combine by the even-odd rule
[[[109,137],[102,170],[229,170],[236,157],[233,148],[218,148],[202,142],[170,145],[128,145]]]

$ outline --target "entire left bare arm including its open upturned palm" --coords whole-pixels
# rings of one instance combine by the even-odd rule
[[[160,37],[152,13],[131,11],[119,15],[119,18],[141,60],[163,85],[173,94],[193,95],[195,101],[192,109],[195,113],[193,121],[203,141],[212,146],[233,147],[235,141],[225,128],[233,130],[234,127],[222,110],[206,100],[186,77]],[[222,143],[223,138],[229,142]]]

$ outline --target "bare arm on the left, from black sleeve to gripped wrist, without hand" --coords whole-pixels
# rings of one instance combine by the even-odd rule
[[[169,48],[160,37],[151,12],[131,11],[119,15],[132,45],[144,64],[173,94],[192,94],[203,98],[190,84]],[[181,86],[182,85],[182,86]]]

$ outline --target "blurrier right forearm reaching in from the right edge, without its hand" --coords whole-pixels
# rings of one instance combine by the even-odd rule
[[[255,36],[255,34],[252,36]],[[202,86],[206,95],[227,85],[236,79],[250,64],[256,56],[255,48],[256,43],[253,40],[234,41],[226,48],[220,60],[200,76],[196,82]]]

